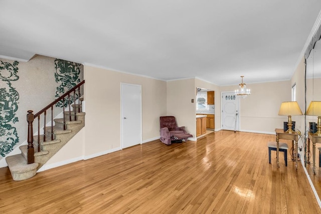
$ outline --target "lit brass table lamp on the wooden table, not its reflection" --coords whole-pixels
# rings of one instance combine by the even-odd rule
[[[292,130],[292,115],[302,115],[302,111],[297,104],[296,101],[291,101],[291,102],[282,102],[279,110],[278,115],[286,115],[288,117],[287,121],[287,130],[286,132],[291,134],[295,133],[295,131]]]

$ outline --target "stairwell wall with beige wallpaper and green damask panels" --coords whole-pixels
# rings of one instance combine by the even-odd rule
[[[41,55],[28,62],[0,58],[0,167],[6,166],[5,157],[10,152],[27,142],[27,111],[37,113],[82,80],[83,66],[78,63]],[[72,94],[70,101],[74,99]],[[68,102],[57,104],[54,117],[61,113],[63,105],[68,106]],[[43,121],[41,116],[41,127]]]

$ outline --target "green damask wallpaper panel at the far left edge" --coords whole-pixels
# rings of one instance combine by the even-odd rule
[[[18,64],[0,61],[0,155],[3,157],[19,142],[17,128],[12,126],[19,121],[15,114],[19,93],[12,86],[12,82],[19,79]]]

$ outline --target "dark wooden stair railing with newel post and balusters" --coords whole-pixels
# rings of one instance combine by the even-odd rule
[[[76,117],[76,109],[78,109],[78,113],[80,112],[80,87],[85,83],[85,80],[80,82],[78,85],[76,85],[74,88],[70,89],[67,91],[65,94],[60,96],[58,99],[56,99],[54,102],[50,103],[47,107],[39,111],[37,114],[33,114],[32,110],[28,111],[27,114],[27,122],[28,122],[28,150],[27,150],[27,163],[31,164],[35,162],[34,154],[35,154],[35,149],[34,149],[34,134],[33,134],[33,122],[35,118],[38,118],[38,152],[40,152],[40,116],[44,114],[44,136],[43,136],[43,141],[46,141],[46,115],[47,115],[47,110],[51,109],[51,140],[54,139],[54,133],[53,133],[53,123],[54,123],[54,118],[53,118],[53,106],[56,105],[59,101],[62,101],[63,103],[63,121],[64,121],[64,130],[66,130],[66,118],[65,118],[65,102],[67,99],[68,107],[69,107],[69,121],[72,120],[71,117],[71,110],[70,110],[70,94],[73,93],[74,96],[74,120],[77,120]],[[78,91],[78,108],[76,108],[76,91]],[[67,98],[66,98],[67,97]]]

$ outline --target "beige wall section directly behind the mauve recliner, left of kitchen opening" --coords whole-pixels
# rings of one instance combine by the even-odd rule
[[[178,126],[185,126],[188,133],[196,137],[195,79],[167,82],[167,115],[175,116]]]

